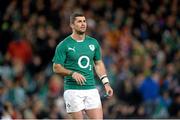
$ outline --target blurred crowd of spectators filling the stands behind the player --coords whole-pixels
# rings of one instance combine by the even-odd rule
[[[180,1],[4,0],[0,4],[0,116],[68,118],[56,45],[83,11],[114,89],[104,118],[180,118]]]

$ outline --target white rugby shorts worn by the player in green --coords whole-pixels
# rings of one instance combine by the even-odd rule
[[[79,112],[83,109],[101,108],[100,95],[97,89],[66,90],[64,100],[67,113]]]

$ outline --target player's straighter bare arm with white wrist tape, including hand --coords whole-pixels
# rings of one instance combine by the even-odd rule
[[[113,95],[113,90],[109,84],[109,79],[102,60],[95,61],[95,71],[104,85],[106,94],[111,97]]]

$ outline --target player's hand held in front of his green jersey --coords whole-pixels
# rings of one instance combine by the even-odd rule
[[[72,78],[74,78],[79,85],[85,84],[86,78],[78,72],[74,72]]]

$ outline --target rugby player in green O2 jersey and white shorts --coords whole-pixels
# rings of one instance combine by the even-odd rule
[[[64,76],[64,100],[67,113],[83,119],[83,111],[90,119],[102,119],[100,95],[96,89],[93,67],[102,81],[108,97],[113,95],[101,48],[96,39],[85,35],[87,22],[82,13],[70,16],[72,34],[60,42],[53,58],[53,71]]]

